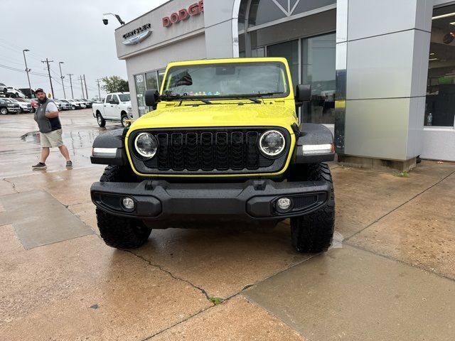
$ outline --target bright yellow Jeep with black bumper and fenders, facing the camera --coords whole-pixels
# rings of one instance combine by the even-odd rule
[[[297,251],[326,251],[333,236],[333,136],[301,124],[311,97],[291,85],[284,58],[170,63],[154,110],[95,139],[109,165],[91,188],[106,244],[140,247],[152,228],[290,219]]]

